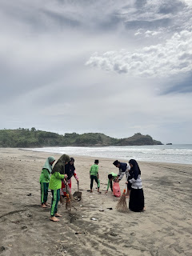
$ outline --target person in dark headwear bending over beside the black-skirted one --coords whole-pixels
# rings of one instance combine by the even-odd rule
[[[126,174],[126,180],[128,180],[130,165],[127,165],[126,162],[119,162],[118,160],[115,160],[113,164],[119,169],[117,182],[120,182],[122,180],[124,174]],[[130,185],[127,184],[126,198],[130,197],[130,189]]]

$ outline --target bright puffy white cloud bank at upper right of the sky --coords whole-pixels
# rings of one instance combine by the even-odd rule
[[[192,32],[175,33],[163,44],[143,47],[135,52],[119,50],[93,54],[87,66],[97,66],[139,76],[169,76],[192,70]]]

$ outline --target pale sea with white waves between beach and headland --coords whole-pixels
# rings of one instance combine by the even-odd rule
[[[26,150],[26,149],[25,149]],[[50,154],[69,154],[94,158],[130,159],[143,162],[170,162],[192,164],[192,144],[173,144],[155,146],[65,146],[42,147],[27,150],[49,152]]]

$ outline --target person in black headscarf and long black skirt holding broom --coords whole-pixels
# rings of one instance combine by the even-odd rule
[[[142,190],[141,170],[138,166],[138,162],[134,159],[130,159],[130,178],[127,183],[130,183],[130,202],[129,209],[133,211],[145,210],[144,194]]]

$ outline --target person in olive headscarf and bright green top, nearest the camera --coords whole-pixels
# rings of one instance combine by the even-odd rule
[[[67,154],[63,154],[54,165],[50,176],[50,190],[52,193],[50,221],[53,222],[58,222],[59,219],[57,217],[62,217],[61,214],[58,214],[58,201],[60,199],[62,179],[67,178],[67,174],[65,174],[65,166],[68,162],[70,162],[70,157]]]

